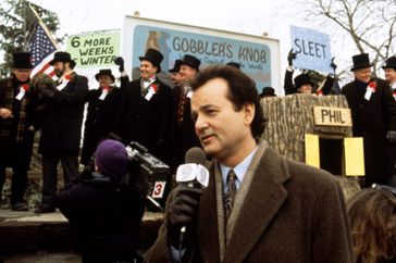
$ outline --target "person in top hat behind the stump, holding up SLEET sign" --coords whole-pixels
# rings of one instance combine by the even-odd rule
[[[294,85],[292,82],[294,67],[293,67],[293,60],[297,58],[297,53],[293,53],[293,50],[289,51],[287,55],[287,62],[288,66],[286,68],[285,73],[285,79],[284,79],[284,90],[285,95],[294,95],[294,93],[306,93],[310,95],[313,91],[313,88],[315,87],[315,84],[312,82],[311,77],[306,74],[301,73],[297,77],[294,78]],[[332,66],[335,66],[334,63],[332,63]],[[334,77],[329,74],[323,87],[321,89],[317,90],[317,95],[329,95],[334,84]]]

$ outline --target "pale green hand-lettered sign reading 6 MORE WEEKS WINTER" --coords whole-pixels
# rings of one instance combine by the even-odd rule
[[[74,35],[67,39],[67,52],[77,67],[97,67],[114,64],[120,55],[120,33],[98,32]]]

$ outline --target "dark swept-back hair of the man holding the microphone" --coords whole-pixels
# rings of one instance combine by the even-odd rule
[[[255,116],[250,125],[250,132],[258,141],[262,133],[264,133],[267,120],[255,82],[245,73],[232,66],[213,65],[206,67],[196,75],[191,82],[193,91],[214,78],[222,78],[228,84],[227,99],[233,103],[235,111],[240,111],[246,103],[255,105]]]

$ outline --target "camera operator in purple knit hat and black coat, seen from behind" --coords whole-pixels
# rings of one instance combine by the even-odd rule
[[[95,172],[71,181],[55,205],[75,231],[83,262],[135,262],[145,196],[136,190],[136,178],[123,184],[129,165],[124,145],[103,140],[94,156]]]

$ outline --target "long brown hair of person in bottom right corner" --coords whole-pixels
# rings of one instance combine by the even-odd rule
[[[396,196],[367,188],[348,200],[347,209],[358,262],[391,260],[396,253]]]

